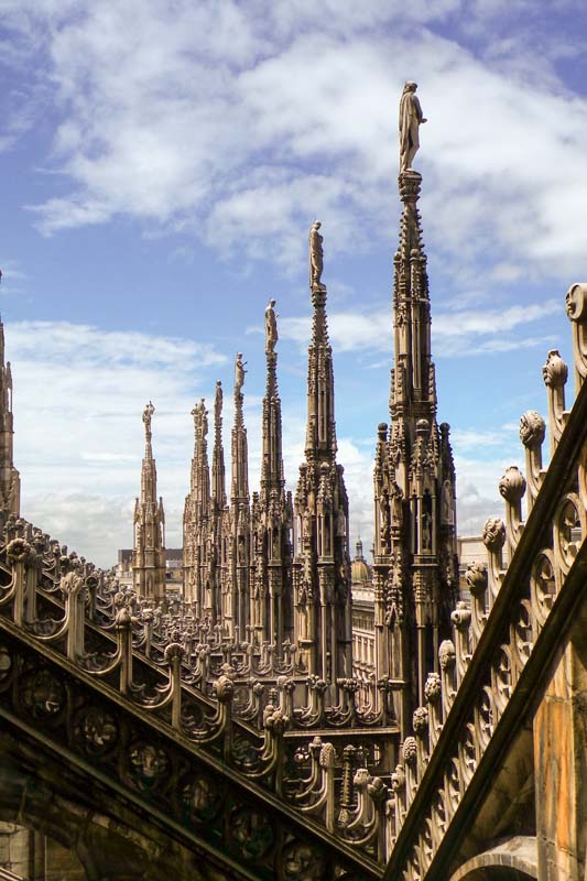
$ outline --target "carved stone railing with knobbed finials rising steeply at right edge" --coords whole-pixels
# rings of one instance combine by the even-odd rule
[[[525,413],[520,436],[528,485],[515,466],[500,481],[506,522],[486,523],[489,563],[468,568],[471,605],[459,602],[453,612],[453,639],[439,646],[439,672],[428,675],[426,705],[414,713],[413,736],[405,738],[391,777],[389,879],[445,877],[453,829],[461,835],[471,822],[471,805],[491,781],[498,751],[514,736],[532,689],[541,686],[544,657],[561,627],[562,612],[553,610],[569,608],[580,590],[573,575],[586,555],[580,548],[587,532],[587,285],[569,290],[567,313],[577,398],[573,410],[565,410],[568,371],[557,351],[548,352],[543,377],[551,463],[543,469],[544,421]]]

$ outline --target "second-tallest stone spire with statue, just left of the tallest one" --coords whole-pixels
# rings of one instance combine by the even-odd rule
[[[351,675],[348,498],[336,463],[333,351],[322,283],[323,238],[309,232],[312,340],[308,347],[305,463],[295,493],[295,641],[309,673]]]

